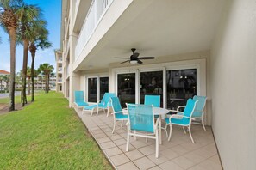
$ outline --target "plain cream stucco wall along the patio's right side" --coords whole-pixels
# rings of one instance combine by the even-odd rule
[[[224,169],[256,169],[256,1],[229,0],[210,56],[212,127]]]

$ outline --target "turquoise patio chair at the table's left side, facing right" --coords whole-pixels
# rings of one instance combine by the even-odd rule
[[[115,128],[116,128],[116,121],[123,121],[124,120],[128,120],[128,115],[127,114],[123,114],[123,110],[122,110],[122,106],[120,104],[120,101],[118,99],[118,97],[111,97],[111,106],[113,108],[113,118],[114,118],[114,126],[113,126],[113,131],[112,133],[114,133]],[[121,124],[122,127],[122,124]]]

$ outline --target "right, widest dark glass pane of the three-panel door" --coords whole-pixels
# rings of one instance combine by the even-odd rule
[[[177,109],[197,95],[197,69],[167,70],[167,108]]]

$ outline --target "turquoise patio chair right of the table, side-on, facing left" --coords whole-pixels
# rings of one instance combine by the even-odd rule
[[[191,121],[192,119],[194,119],[192,118],[192,115],[193,115],[193,112],[195,111],[196,106],[197,106],[197,100],[189,99],[187,100],[187,104],[184,108],[184,112],[179,112],[182,114],[173,114],[171,115],[170,118],[165,118],[165,123],[167,125],[170,125],[170,134],[169,134],[168,141],[170,141],[172,137],[172,124],[173,124],[173,125],[182,126],[183,130],[184,130],[184,127],[187,127],[190,133],[190,139],[192,143],[194,143],[194,139],[191,134]],[[184,130],[184,133],[186,133],[185,130]]]

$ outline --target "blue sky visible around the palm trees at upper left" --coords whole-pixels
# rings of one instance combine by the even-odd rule
[[[38,49],[35,53],[34,69],[40,64],[48,63],[56,67],[54,49],[60,47],[60,24],[61,24],[61,0],[25,0],[28,4],[38,5],[43,12],[43,18],[47,21],[49,31],[48,39],[52,47],[41,51]],[[9,71],[9,35],[0,27],[0,70]],[[16,46],[16,72],[22,70],[23,63],[23,46]],[[31,55],[28,52],[28,66],[31,66]],[[55,72],[55,70],[54,70]]]

